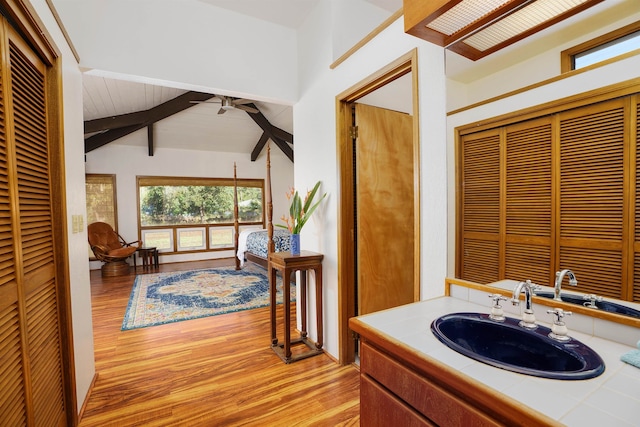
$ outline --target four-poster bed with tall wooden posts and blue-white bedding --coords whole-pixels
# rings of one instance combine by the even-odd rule
[[[233,166],[234,180],[234,228],[236,270],[240,270],[245,261],[253,262],[267,268],[269,254],[290,249],[290,233],[285,229],[273,228],[273,202],[271,199],[271,146],[267,145],[267,179],[265,184],[266,229],[244,229],[240,231],[238,215],[238,186],[236,166]]]

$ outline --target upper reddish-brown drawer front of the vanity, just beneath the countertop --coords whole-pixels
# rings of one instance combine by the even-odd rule
[[[374,378],[437,425],[503,425],[366,342],[363,342],[360,348],[361,374]],[[360,405],[362,405],[362,397]]]

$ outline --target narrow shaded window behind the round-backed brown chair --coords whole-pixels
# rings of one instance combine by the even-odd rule
[[[118,214],[116,210],[116,176],[87,174],[87,225],[93,222],[106,222],[114,230],[118,230]],[[95,259],[91,248],[89,259]]]

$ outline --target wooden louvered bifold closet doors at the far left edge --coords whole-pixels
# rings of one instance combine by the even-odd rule
[[[67,424],[46,67],[4,22],[0,74],[0,424]]]

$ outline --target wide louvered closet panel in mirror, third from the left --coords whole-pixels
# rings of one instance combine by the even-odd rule
[[[614,298],[623,297],[620,284],[629,279],[623,240],[630,202],[624,197],[629,191],[624,180],[625,163],[630,164],[629,105],[626,98],[559,116],[558,268],[576,273],[580,291]]]

